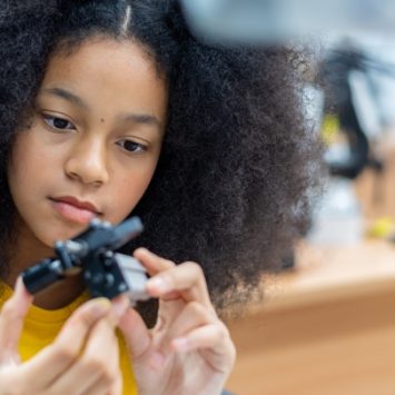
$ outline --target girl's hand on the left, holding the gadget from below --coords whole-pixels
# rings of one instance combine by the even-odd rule
[[[121,297],[112,305],[105,298],[87,302],[52,344],[20,363],[18,342],[31,303],[19,278],[0,314],[0,395],[119,395],[122,383],[115,326],[128,299]]]

